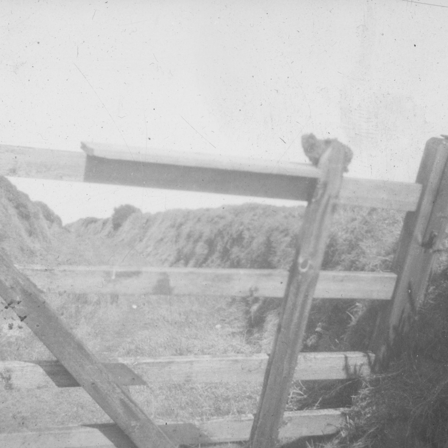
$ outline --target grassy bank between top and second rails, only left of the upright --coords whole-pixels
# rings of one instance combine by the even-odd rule
[[[273,268],[289,266],[303,213],[303,208],[243,205],[136,212],[115,229],[114,214],[107,220],[80,220],[67,228],[78,235],[96,234],[124,243],[128,248],[124,263],[133,254],[149,265]]]

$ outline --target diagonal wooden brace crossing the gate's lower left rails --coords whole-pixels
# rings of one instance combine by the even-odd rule
[[[65,327],[37,287],[1,253],[0,297],[137,447],[174,447],[94,354]]]

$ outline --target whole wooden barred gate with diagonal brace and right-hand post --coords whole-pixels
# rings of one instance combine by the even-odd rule
[[[0,362],[3,392],[82,385],[116,425],[3,433],[0,446],[173,447],[250,438],[253,448],[261,448],[271,446],[277,436],[286,441],[335,433],[343,423],[343,410],[284,413],[285,393],[292,379],[341,379],[353,371],[369,374],[374,355],[300,353],[311,299],[382,301],[384,306],[372,348],[375,366],[381,368],[387,364],[388,347],[393,346],[397,331],[406,325],[405,317],[421,302],[438,245],[445,237],[447,140],[428,141],[415,184],[342,178],[342,148],[337,143],[317,168],[225,157],[143,154],[135,148],[130,152],[129,148],[91,143],[83,143],[82,148],[85,154],[0,145],[0,174],[307,200],[304,226],[309,229],[303,229],[302,247],[289,273],[105,266],[46,269],[14,267],[1,255],[0,296],[6,307],[14,310],[58,359]],[[393,273],[319,272],[336,203],[408,212]],[[314,230],[310,224],[314,224]],[[277,334],[270,357],[260,354],[98,359],[67,330],[35,285],[47,288],[51,285],[50,289],[62,292],[273,297],[284,303],[283,330]],[[279,347],[285,345],[285,340],[291,346],[288,352]],[[261,384],[264,375],[258,412],[255,420],[253,416],[188,423],[150,420],[126,390],[128,386],[146,384],[138,372],[144,372],[151,384],[184,381]]]

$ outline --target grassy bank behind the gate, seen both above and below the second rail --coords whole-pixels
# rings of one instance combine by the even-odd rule
[[[304,208],[243,205],[220,209],[173,210],[142,214],[122,206],[109,219],[88,218],[67,227],[72,233],[98,236],[127,264],[218,268],[289,268],[295,255]],[[336,213],[323,269],[387,271],[391,267],[403,214],[341,207]],[[124,249],[121,252],[118,247]],[[246,318],[246,336],[269,351],[278,322],[278,300],[236,300]],[[368,335],[353,330],[364,310],[356,301],[318,301],[305,339],[307,350],[350,349]],[[319,332],[315,332],[319,329]],[[349,336],[347,332],[350,329]],[[365,333],[366,327],[363,327]]]

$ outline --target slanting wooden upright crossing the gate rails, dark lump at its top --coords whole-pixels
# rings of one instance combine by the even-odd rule
[[[301,228],[300,247],[291,267],[277,333],[250,434],[251,448],[277,443],[297,358],[342,184],[345,147],[334,141],[321,157],[319,179]]]

